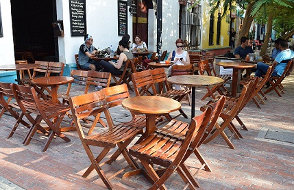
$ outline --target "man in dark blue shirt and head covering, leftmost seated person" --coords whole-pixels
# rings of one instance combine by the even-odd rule
[[[93,38],[89,34],[86,34],[84,36],[84,43],[79,46],[79,65],[81,68],[99,70],[99,62],[91,59],[91,56],[95,56],[95,53],[99,53],[99,51],[93,46]]]

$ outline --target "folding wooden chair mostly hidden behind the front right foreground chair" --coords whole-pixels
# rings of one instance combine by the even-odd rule
[[[205,168],[207,172],[211,172],[211,168],[209,167],[208,163],[205,161],[204,157],[201,155],[199,150],[199,146],[204,142],[206,137],[210,135],[213,127],[215,126],[215,123],[217,122],[217,119],[219,118],[219,115],[221,114],[221,111],[223,110],[223,106],[225,105],[225,96],[221,96],[219,100],[217,100],[215,103],[210,104],[209,106],[212,108],[212,116],[210,118],[210,122],[208,124],[208,127],[206,128],[206,131],[201,137],[201,140],[195,147],[190,147],[191,150],[194,150],[194,154],[199,159],[201,163],[201,167],[199,167],[198,170],[201,170],[202,168]],[[178,140],[182,140],[182,137],[186,134],[188,131],[188,124],[172,120],[167,124],[166,126],[163,126],[162,128],[158,128],[155,133],[158,135],[164,135],[171,138],[177,138]]]

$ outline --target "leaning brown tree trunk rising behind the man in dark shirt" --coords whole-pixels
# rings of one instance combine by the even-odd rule
[[[241,31],[239,33],[239,39],[237,41],[237,46],[240,45],[240,40],[243,36],[247,37],[248,33],[249,33],[249,29],[250,26],[252,24],[252,21],[254,19],[254,16],[250,16],[250,14],[252,13],[252,9],[253,9],[253,5],[254,5],[255,1],[252,1],[251,3],[248,3],[247,5],[247,9],[246,9],[246,13],[245,13],[245,18],[243,20],[243,25],[241,28]]]

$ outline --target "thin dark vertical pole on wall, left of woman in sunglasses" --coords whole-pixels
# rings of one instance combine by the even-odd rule
[[[161,56],[162,42],[162,0],[157,0],[157,53],[158,58]]]

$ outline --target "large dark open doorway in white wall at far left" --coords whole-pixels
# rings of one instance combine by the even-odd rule
[[[56,21],[56,0],[11,0],[15,59],[58,62],[58,38],[52,23]]]

